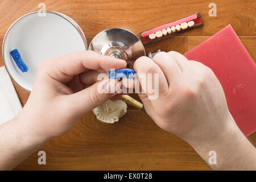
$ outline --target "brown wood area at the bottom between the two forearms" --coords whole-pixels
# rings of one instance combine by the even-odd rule
[[[187,142],[135,110],[113,125],[97,121],[90,112],[72,131],[40,150],[46,151],[45,166],[38,165],[35,152],[15,169],[209,170]]]

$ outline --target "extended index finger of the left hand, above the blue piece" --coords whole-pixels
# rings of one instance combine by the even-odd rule
[[[70,81],[73,76],[93,70],[122,69],[126,61],[110,56],[100,55],[94,51],[79,51],[47,60],[43,69],[49,76],[61,82]]]

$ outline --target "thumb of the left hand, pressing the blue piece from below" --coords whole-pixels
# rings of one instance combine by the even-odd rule
[[[85,114],[95,107],[103,104],[117,94],[118,80],[103,80],[92,86],[67,96],[67,101],[72,106],[73,112]]]

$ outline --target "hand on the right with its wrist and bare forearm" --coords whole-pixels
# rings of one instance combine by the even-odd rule
[[[152,94],[143,80],[140,84],[146,93],[139,94],[159,127],[186,140],[212,169],[256,169],[256,149],[234,122],[224,90],[210,68],[171,51],[153,59],[140,57],[134,69],[138,75],[159,74],[159,97],[148,100]],[[216,163],[210,162],[214,154]]]

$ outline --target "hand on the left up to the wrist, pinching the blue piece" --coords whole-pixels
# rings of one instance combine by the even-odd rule
[[[97,91],[98,74],[125,67],[126,61],[93,51],[73,52],[44,61],[18,121],[36,137],[49,139],[67,133],[82,115],[110,98],[119,97]],[[103,81],[117,84],[115,80]]]

